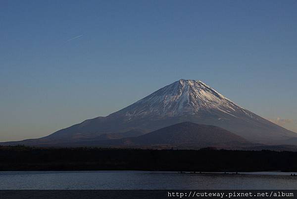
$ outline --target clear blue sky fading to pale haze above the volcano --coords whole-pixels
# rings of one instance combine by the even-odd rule
[[[0,0],[0,141],[181,78],[297,132],[297,1]]]

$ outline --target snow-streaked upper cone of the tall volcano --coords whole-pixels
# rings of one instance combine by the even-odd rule
[[[199,80],[175,81],[117,113],[128,117],[148,115],[193,115],[199,111],[216,110],[236,117],[233,113],[243,108]],[[247,113],[246,113],[247,114]]]

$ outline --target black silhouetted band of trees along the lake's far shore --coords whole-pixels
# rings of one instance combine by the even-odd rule
[[[0,146],[1,171],[297,171],[297,152]]]

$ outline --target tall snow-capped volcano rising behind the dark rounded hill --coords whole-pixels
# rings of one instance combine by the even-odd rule
[[[286,144],[297,137],[297,133],[238,106],[202,81],[180,79],[106,117],[13,144],[78,142],[129,131],[148,133],[182,122],[217,126],[256,143]]]

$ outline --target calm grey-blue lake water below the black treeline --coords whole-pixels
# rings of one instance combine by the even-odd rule
[[[297,189],[285,172],[194,174],[146,171],[0,172],[0,189]]]

